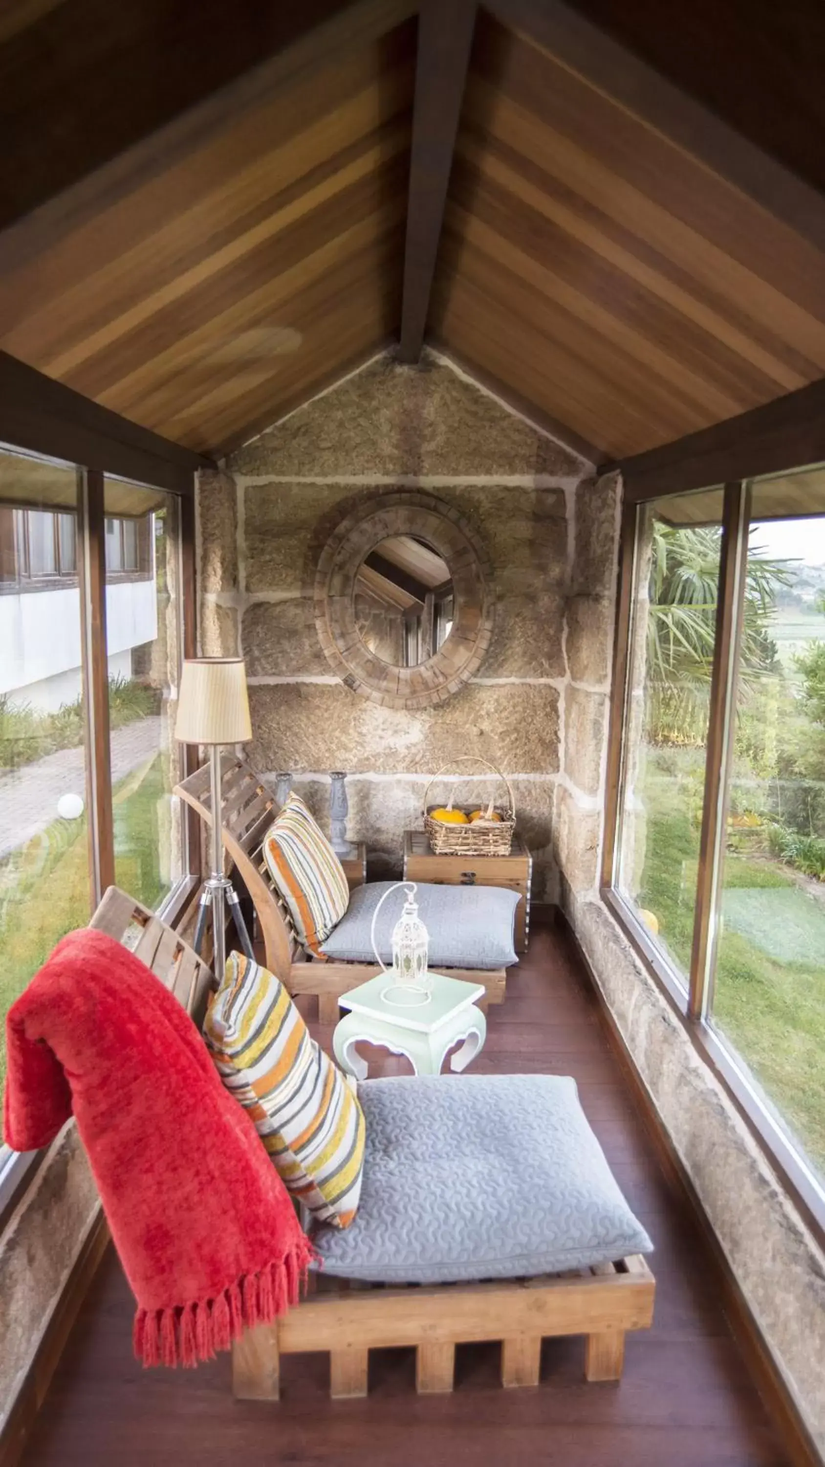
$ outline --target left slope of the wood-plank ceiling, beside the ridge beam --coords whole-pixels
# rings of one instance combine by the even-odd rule
[[[355,7],[384,26],[409,7]],[[349,12],[347,12],[349,16]],[[415,22],[333,31],[322,65],[177,142],[116,191],[0,236],[0,345],[188,447],[214,450],[397,329]],[[111,197],[113,194],[113,197]],[[34,219],[34,224],[40,222]]]

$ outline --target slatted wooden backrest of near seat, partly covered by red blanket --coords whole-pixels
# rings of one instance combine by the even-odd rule
[[[155,912],[119,886],[110,886],[89,927],[108,933],[141,958],[201,1025],[214,981],[212,971]]]

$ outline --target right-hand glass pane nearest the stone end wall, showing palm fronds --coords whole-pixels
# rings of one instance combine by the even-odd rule
[[[684,984],[696,911],[719,519],[718,490],[648,506],[636,555],[617,880]]]

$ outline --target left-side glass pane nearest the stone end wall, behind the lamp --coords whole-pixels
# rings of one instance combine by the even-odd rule
[[[106,480],[106,509],[129,486]],[[142,519],[107,519],[125,555],[107,560],[108,716],[114,810],[114,879],[148,907],[158,907],[185,870],[174,698],[180,659],[179,511],[157,494]],[[125,534],[122,534],[125,531]],[[139,540],[149,547],[139,574]],[[129,562],[129,556],[132,560]]]

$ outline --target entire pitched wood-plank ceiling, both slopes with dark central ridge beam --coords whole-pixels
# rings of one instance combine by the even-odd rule
[[[217,0],[16,0],[0,22],[19,142],[0,160],[0,348],[212,453],[399,334],[416,359],[425,326],[598,461],[818,381],[825,117],[821,92],[788,100],[788,75],[807,76],[822,23],[812,0],[765,21],[768,94],[752,0],[722,0],[740,65],[719,91],[709,3],[680,48],[668,7],[580,0],[687,88],[681,109],[563,0],[478,16],[472,0],[306,0],[280,21],[243,0],[232,23]],[[226,44],[201,66],[212,10],[211,51]],[[149,70],[163,57],[152,85],[130,47]],[[775,156],[755,153],[744,133],[766,147],[780,110]]]

